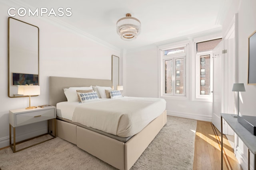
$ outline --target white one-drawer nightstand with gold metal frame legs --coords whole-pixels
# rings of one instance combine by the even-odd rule
[[[45,141],[42,141],[40,143],[36,143],[34,145],[31,145],[29,147],[25,147],[22,148],[20,150],[16,150],[16,141],[15,141],[15,128],[19,127],[19,126],[23,126],[23,125],[28,125],[31,123],[36,123],[36,122],[40,122],[40,121],[45,121],[48,120],[48,133],[52,136],[51,139],[56,138],[56,107],[55,106],[50,106],[50,107],[37,107],[35,109],[13,109],[9,111],[9,123],[10,123],[10,147],[12,148],[13,152],[18,152],[20,150],[24,150],[27,149],[29,147],[32,147],[34,145],[38,145],[40,143],[49,141],[51,139],[47,139]],[[50,123],[50,121],[52,120],[53,124]],[[52,130],[49,130],[49,127],[52,126],[54,127],[54,135],[52,134]],[[12,144],[12,127],[13,127],[13,144]],[[46,135],[44,134],[44,135]],[[40,135],[42,136],[42,135]],[[38,136],[39,137],[39,136]],[[30,138],[30,139],[34,139]],[[28,141],[30,139],[26,139],[25,141]],[[19,143],[22,143],[24,141],[21,141]]]

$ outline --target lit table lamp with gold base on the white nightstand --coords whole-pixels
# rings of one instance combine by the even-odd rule
[[[30,106],[30,96],[40,95],[40,86],[18,86],[18,94],[22,94],[23,96],[29,96],[29,107],[26,109],[34,109],[36,106]]]

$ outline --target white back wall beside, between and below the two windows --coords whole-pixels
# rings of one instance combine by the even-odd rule
[[[125,92],[127,96],[158,98],[158,51],[157,45],[150,45],[126,52],[124,59],[124,67],[126,68],[124,72],[124,82],[126,82]],[[186,82],[188,97],[185,100],[166,99],[167,114],[190,119],[211,121],[212,103],[192,101],[191,99],[191,54],[192,53],[188,54],[186,60],[186,69],[188,69],[186,75],[188,77],[188,81]]]

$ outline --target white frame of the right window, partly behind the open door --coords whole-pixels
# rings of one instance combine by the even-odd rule
[[[206,37],[200,37],[194,39],[193,43],[193,55],[192,55],[192,100],[200,102],[212,102],[212,90],[213,90],[213,54],[212,50],[196,52],[196,43],[203,41],[209,41],[213,39],[222,38],[221,33],[216,35],[209,35]],[[210,95],[200,94],[200,56],[210,55]]]

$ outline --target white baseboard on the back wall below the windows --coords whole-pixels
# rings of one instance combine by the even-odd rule
[[[171,111],[171,110],[167,110],[167,115],[183,117],[187,119],[195,119],[195,120],[210,121],[210,122],[212,121],[212,116],[199,115],[199,114],[193,114],[193,113],[184,113],[184,112]]]

